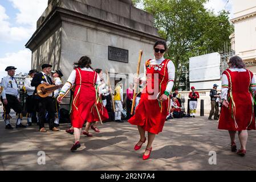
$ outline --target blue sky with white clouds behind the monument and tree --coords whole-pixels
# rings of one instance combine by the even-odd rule
[[[36,30],[36,21],[47,2],[0,0],[0,78],[6,76],[5,68],[9,65],[18,68],[17,73],[27,73],[31,69],[31,51],[25,44]],[[222,9],[233,12],[232,0],[210,0],[205,7],[215,13]]]

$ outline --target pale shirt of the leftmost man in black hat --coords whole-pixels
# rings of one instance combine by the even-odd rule
[[[7,75],[6,77],[3,77],[1,86],[3,87],[3,91],[2,91],[3,99],[6,99],[6,94],[10,94],[12,96],[19,98],[18,84],[15,78],[12,78],[9,75]]]

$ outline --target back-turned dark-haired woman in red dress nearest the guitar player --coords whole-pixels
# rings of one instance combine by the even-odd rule
[[[91,59],[89,57],[81,57],[78,63],[74,63],[74,65],[74,71],[71,72],[70,77],[68,77],[66,84],[60,90],[59,97],[57,98],[58,102],[62,101],[67,90],[72,88],[72,85],[76,85],[71,106],[71,122],[75,135],[75,143],[71,147],[71,151],[81,146],[79,140],[84,122],[87,121],[86,129],[89,129],[91,123],[99,119],[94,113],[94,109],[96,109],[95,86],[100,85],[100,78],[91,68]],[[85,133],[85,131],[83,131],[83,134],[90,135],[89,133]]]

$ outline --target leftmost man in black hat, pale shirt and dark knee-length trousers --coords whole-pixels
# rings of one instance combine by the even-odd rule
[[[3,78],[1,82],[2,96],[1,101],[3,103],[3,119],[5,119],[5,129],[13,130],[13,127],[10,125],[10,111],[13,109],[17,113],[17,122],[16,128],[26,127],[22,125],[22,105],[19,104],[19,90],[18,83],[14,78],[15,67],[10,66],[5,69],[8,75]]]

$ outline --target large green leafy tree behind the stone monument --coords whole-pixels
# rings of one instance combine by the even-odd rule
[[[174,87],[189,88],[189,57],[210,52],[221,52],[224,44],[230,45],[229,35],[234,31],[229,12],[218,15],[206,10],[208,0],[133,0],[133,5],[155,16],[155,27],[166,39],[168,51],[176,68]]]

